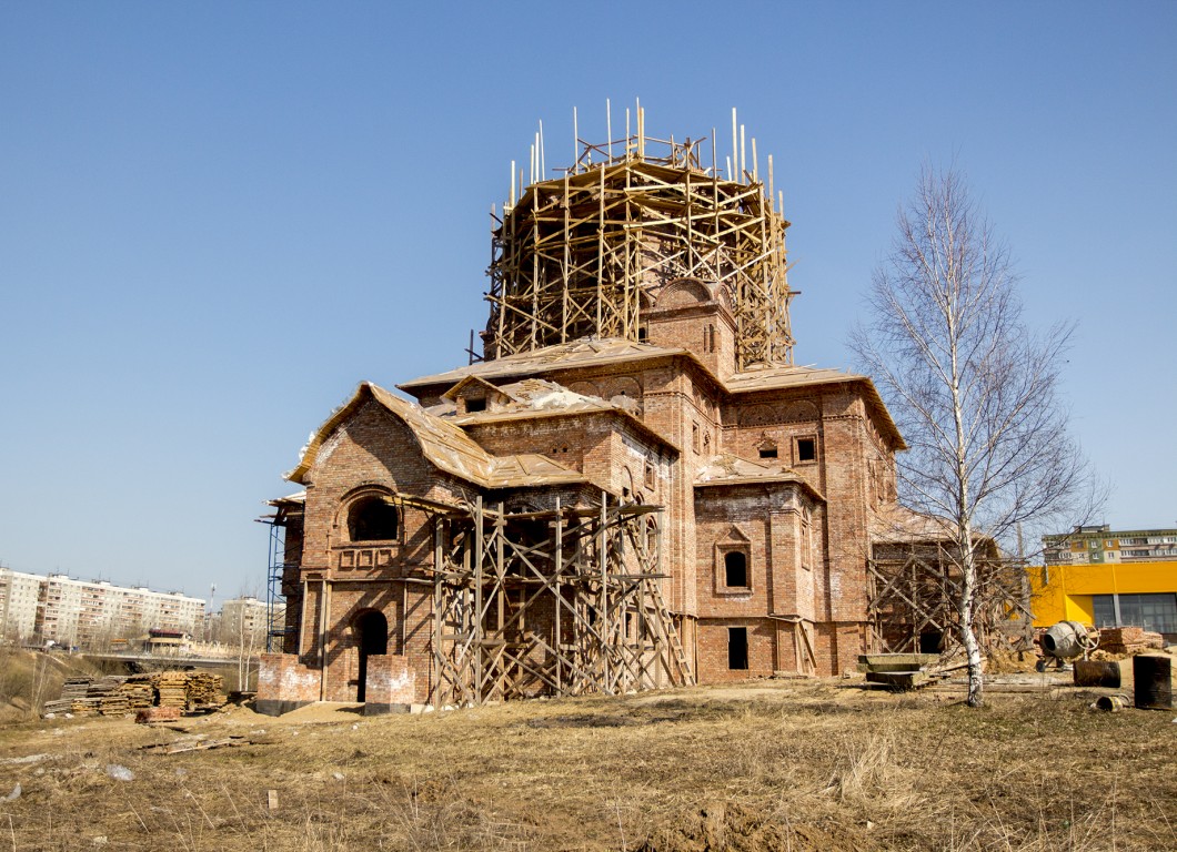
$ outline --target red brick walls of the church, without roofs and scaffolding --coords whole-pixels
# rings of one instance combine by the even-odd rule
[[[674,322],[671,317],[663,329],[673,330]],[[718,355],[726,356],[726,338],[720,336],[719,343]],[[685,340],[674,344],[685,344]],[[616,415],[486,421],[471,424],[468,434],[492,454],[539,452],[585,472],[614,495],[630,489],[631,498],[640,496],[665,505],[663,570],[670,577],[664,586],[671,609],[689,616],[684,642],[687,653],[698,657],[703,680],[794,670],[794,629],[787,622],[769,619],[769,615],[817,623],[818,673],[853,665],[865,636],[867,522],[880,492],[893,489],[891,457],[866,416],[860,387],[833,383],[765,391],[720,405],[718,387],[681,358],[553,369],[546,375],[606,398],[624,391],[634,401],[633,410],[645,425],[677,451],[641,429],[625,425]],[[777,443],[779,465],[805,478],[824,501],[797,484],[694,488],[700,465],[722,452],[772,464],[759,458],[759,444],[766,437]],[[794,458],[798,437],[816,438],[814,462]],[[873,472],[871,462],[876,464]],[[645,482],[646,463],[656,468],[652,488]],[[432,565],[430,519],[420,510],[406,509],[400,541],[353,546],[341,509],[359,488],[448,502],[473,499],[476,489],[428,464],[408,429],[374,402],[361,407],[325,441],[307,478],[300,583],[288,584],[295,597],[306,582],[302,662],[319,665],[321,590],[327,579],[332,583],[326,613],[328,697],[354,698],[358,657],[351,625],[363,610],[377,609],[394,635],[390,651],[403,653],[399,662],[387,665],[406,666],[413,673],[413,696],[426,700],[434,676],[432,599],[427,586],[406,586],[404,578],[424,576],[420,569]],[[516,496],[539,501],[539,505],[551,502],[553,494],[550,489],[524,489]],[[580,489],[568,494],[587,496]],[[499,498],[510,499],[511,494],[494,496]],[[805,517],[811,524],[812,546]],[[732,537],[733,529],[739,536]],[[747,592],[717,584],[716,545],[737,542],[749,550]],[[298,618],[302,608],[294,605],[291,612]],[[693,616],[700,619],[694,648]],[[727,626],[750,629],[747,671],[727,667]]]

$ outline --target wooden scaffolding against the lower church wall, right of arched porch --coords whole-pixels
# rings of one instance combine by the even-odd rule
[[[617,695],[694,682],[661,593],[660,506],[434,522],[431,700]]]

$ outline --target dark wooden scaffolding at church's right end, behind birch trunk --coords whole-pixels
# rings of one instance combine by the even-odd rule
[[[883,652],[944,653],[959,648],[960,570],[939,543],[876,545],[867,562],[867,612]],[[1033,640],[1025,568],[992,554],[977,568],[973,629],[982,651],[1028,650]]]

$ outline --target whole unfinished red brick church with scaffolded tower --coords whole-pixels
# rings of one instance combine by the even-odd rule
[[[287,474],[260,709],[832,675],[878,648],[903,438],[869,377],[793,363],[771,159],[733,126],[705,168],[636,118],[512,187],[481,357],[361,383]]]

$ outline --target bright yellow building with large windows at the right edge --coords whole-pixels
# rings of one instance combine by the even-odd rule
[[[1177,561],[1046,564],[1026,571],[1036,628],[1082,622],[1177,638]]]

